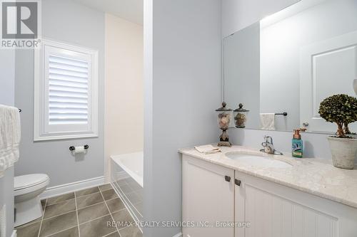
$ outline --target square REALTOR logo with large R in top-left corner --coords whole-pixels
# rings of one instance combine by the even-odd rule
[[[39,45],[39,0],[1,1],[1,48],[36,48]]]

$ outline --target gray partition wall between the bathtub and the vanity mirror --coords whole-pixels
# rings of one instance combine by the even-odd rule
[[[181,221],[178,149],[218,137],[214,110],[221,102],[221,1],[144,4],[144,218]],[[144,236],[179,232],[179,227],[146,228]]]

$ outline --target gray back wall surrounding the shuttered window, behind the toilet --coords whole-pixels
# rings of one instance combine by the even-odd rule
[[[71,183],[104,174],[104,13],[68,0],[42,1],[44,38],[99,50],[99,137],[34,142],[34,53],[16,52],[15,105],[21,107],[21,157],[15,174],[46,173],[51,184]],[[89,144],[84,157],[71,145]]]

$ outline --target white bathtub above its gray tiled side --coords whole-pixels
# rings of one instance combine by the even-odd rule
[[[124,169],[141,187],[144,187],[144,152],[119,154],[111,156],[111,159]]]

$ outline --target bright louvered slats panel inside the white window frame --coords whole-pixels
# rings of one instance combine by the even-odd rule
[[[88,124],[89,63],[49,56],[49,125]]]

